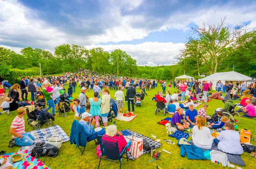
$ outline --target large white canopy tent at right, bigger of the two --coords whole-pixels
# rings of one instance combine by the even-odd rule
[[[214,73],[210,76],[207,76],[203,79],[206,80],[208,83],[212,81],[212,89],[215,90],[216,88],[216,83],[221,80],[223,84],[225,84],[225,81],[246,81],[246,80],[251,80],[249,76],[245,76],[241,73],[235,72],[235,71],[230,71],[230,72],[219,72],[219,73]]]

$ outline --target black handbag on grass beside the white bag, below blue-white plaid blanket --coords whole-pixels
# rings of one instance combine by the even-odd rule
[[[58,148],[45,142],[36,143],[34,149],[32,149],[31,152],[31,156],[35,158],[44,156],[56,157],[57,155]]]

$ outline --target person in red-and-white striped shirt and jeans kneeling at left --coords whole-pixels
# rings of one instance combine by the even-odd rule
[[[31,146],[34,144],[35,137],[25,132],[25,121],[23,116],[26,114],[26,108],[20,107],[17,109],[17,116],[12,121],[9,133],[12,135],[12,140],[9,142],[9,147],[14,146]]]

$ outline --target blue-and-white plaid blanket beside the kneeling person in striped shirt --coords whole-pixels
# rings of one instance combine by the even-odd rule
[[[67,142],[70,140],[69,136],[64,132],[64,130],[59,127],[58,125],[54,125],[51,127],[46,127],[43,129],[38,129],[38,130],[32,130],[28,133],[32,134],[35,137],[35,142],[32,146],[22,146],[20,149],[29,149],[32,150],[34,148],[35,143],[38,142],[44,142],[45,138],[52,136],[52,133],[58,133],[60,137],[62,137],[63,142]]]

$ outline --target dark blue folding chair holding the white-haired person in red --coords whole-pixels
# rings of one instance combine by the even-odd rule
[[[106,141],[104,138],[111,139],[111,141]],[[127,162],[128,162],[128,155],[127,155],[126,146],[122,149],[121,153],[119,153],[118,144],[117,144],[116,139],[113,139],[113,138],[108,137],[108,136],[99,135],[98,136],[98,141],[99,141],[99,145],[100,145],[100,150],[102,152],[101,155],[100,155],[100,158],[99,158],[99,165],[100,165],[101,159],[105,159],[105,160],[108,160],[108,161],[112,161],[114,163],[119,163],[120,162],[119,169],[121,169],[122,157],[123,157],[125,152],[126,152],[126,158],[127,158]],[[106,158],[103,158],[103,156],[105,156]],[[118,161],[116,161],[116,160],[118,160]],[[98,166],[98,169],[99,169],[99,166]]]

